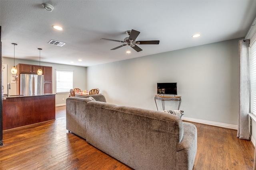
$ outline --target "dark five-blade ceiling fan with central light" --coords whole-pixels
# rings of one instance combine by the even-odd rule
[[[139,44],[159,44],[159,40],[158,41],[136,41],[136,38],[138,37],[140,32],[136,31],[134,29],[126,31],[126,34],[129,35],[129,37],[124,38],[124,41],[119,41],[119,40],[114,40],[114,39],[106,39],[106,38],[101,38],[101,39],[124,43],[123,45],[120,45],[111,50],[119,49],[120,47],[124,47],[124,46],[128,45],[128,46],[132,47],[135,51],[140,52],[140,51],[142,51],[142,49],[137,46]]]

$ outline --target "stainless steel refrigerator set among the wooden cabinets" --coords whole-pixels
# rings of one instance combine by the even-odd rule
[[[44,94],[44,75],[20,74],[20,94],[36,96]]]

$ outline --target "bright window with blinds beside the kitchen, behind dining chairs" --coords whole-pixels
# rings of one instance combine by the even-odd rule
[[[56,70],[56,93],[69,93],[73,89],[73,71]]]

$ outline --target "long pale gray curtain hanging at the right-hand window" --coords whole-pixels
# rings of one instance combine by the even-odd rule
[[[239,41],[239,113],[237,137],[250,140],[249,119],[250,112],[250,39]]]

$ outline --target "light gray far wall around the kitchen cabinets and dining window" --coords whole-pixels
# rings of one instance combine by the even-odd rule
[[[7,64],[7,82],[10,83],[12,80],[11,69],[13,67],[13,58],[2,58],[3,64]],[[28,61],[15,59],[15,65],[18,63],[22,64],[34,64],[39,65],[38,61]],[[42,66],[51,66],[52,67],[52,93],[56,94],[56,70],[55,69],[64,69],[64,70],[74,70],[73,72],[73,88],[80,88],[81,90],[86,90],[86,67],[81,66],[70,66],[64,64],[54,64],[54,63],[44,63],[41,62]],[[10,95],[16,94],[16,84],[11,84],[12,89],[10,90]],[[66,104],[66,98],[68,98],[69,93],[66,94],[56,94],[56,105],[62,106]]]

